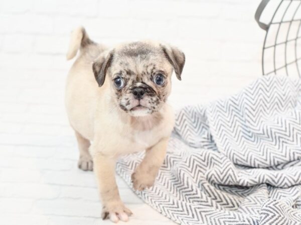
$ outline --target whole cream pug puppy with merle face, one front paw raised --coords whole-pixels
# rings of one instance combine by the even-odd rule
[[[132,212],[120,199],[116,159],[145,150],[131,175],[133,187],[154,184],[174,127],[166,103],[175,71],[181,80],[185,55],[176,47],[152,41],[113,48],[92,41],[85,29],[72,32],[67,59],[80,54],[66,85],[68,118],[78,142],[78,166],[94,170],[102,201],[102,218],[127,221]]]

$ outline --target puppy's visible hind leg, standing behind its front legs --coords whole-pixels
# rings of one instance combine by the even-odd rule
[[[93,160],[89,153],[90,141],[84,138],[79,132],[75,131],[78,148],[79,159],[78,167],[82,170],[93,170]]]

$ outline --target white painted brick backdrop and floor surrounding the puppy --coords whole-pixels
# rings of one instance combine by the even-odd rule
[[[70,31],[96,41],[158,39],[187,62],[170,103],[206,103],[261,75],[260,0],[0,0],[0,224],[102,221],[95,177],[77,168],[64,108]],[[117,178],[134,216],[128,224],[172,224]]]

